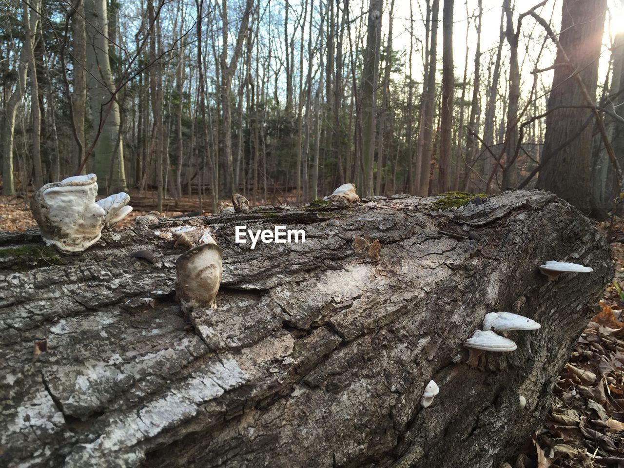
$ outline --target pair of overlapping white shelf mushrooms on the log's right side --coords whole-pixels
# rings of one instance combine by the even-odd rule
[[[512,330],[537,330],[541,327],[536,321],[510,312],[490,312],[485,314],[483,329],[475,331],[464,341],[464,347],[479,351],[507,353],[517,348],[513,340],[500,336],[499,333]]]

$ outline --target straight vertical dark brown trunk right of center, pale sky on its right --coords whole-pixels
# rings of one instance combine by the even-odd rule
[[[444,0],[442,10],[442,110],[440,122],[439,192],[451,190],[451,143],[453,119],[453,0]]]

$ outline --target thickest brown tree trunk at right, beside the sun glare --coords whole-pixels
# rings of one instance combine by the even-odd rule
[[[598,56],[602,45],[605,22],[605,0],[565,0],[559,41],[572,63],[565,64],[561,51],[557,52],[552,92],[548,109],[559,106],[587,105],[571,72],[577,72],[590,97],[595,97],[598,80]],[[589,109],[558,109],[546,117],[546,135],[538,185],[557,193],[584,213],[593,208],[590,177],[593,127],[580,130],[591,114]],[[553,154],[572,135],[579,134],[574,144]]]

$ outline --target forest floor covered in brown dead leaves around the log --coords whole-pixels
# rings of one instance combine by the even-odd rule
[[[116,228],[134,224],[155,206],[153,193],[132,201],[138,209]],[[164,207],[167,216],[181,215],[197,209],[197,198],[166,200]],[[32,227],[36,223],[24,198],[0,196],[0,231]],[[598,227],[606,231],[608,225]],[[614,232],[624,237],[624,220]],[[612,252],[615,280],[558,377],[546,421],[501,468],[624,468],[624,243],[612,243]]]

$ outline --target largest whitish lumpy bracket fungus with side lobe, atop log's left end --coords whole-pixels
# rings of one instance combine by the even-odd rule
[[[47,245],[60,250],[86,250],[102,236],[102,228],[119,222],[132,207],[130,197],[117,193],[95,202],[95,174],[67,177],[46,183],[32,195],[31,212]]]

